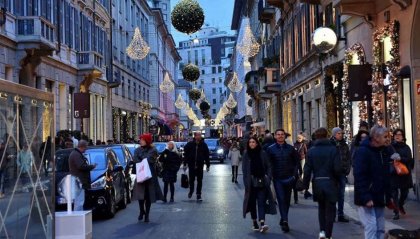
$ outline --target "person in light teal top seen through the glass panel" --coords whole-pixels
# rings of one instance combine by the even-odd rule
[[[28,145],[24,144],[22,150],[17,155],[17,166],[20,170],[20,178],[22,182],[22,191],[29,192],[28,182],[29,177],[32,175],[32,163],[34,161],[34,156],[29,150]]]

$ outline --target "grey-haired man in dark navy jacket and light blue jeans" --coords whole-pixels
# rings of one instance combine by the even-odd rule
[[[387,128],[375,125],[354,155],[354,203],[366,239],[383,239],[384,208],[392,203]]]

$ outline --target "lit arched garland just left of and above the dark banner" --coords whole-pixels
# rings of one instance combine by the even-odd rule
[[[349,65],[351,64],[351,60],[353,59],[353,55],[356,54],[357,59],[361,65],[366,63],[365,57],[365,50],[360,43],[354,44],[352,47],[348,48],[344,53],[344,67],[343,67],[343,113],[344,113],[344,136],[347,139],[347,142],[351,141],[352,133],[351,133],[351,103],[349,102]],[[362,118],[362,117],[360,117]],[[366,108],[366,118],[367,118],[367,108]]]

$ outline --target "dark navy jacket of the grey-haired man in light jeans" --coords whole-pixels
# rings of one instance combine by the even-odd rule
[[[370,144],[370,139],[364,140],[354,153],[354,204],[365,206],[372,200],[375,207],[385,207],[391,197],[391,153]]]

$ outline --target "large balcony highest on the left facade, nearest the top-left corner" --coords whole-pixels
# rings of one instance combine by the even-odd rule
[[[40,16],[17,17],[17,41],[20,49],[56,49],[55,26]]]

